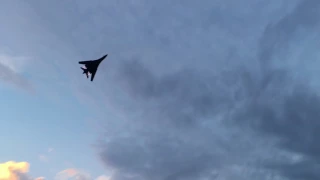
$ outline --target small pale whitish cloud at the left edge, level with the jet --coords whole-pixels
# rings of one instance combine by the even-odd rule
[[[25,60],[26,58],[24,57],[13,57],[6,54],[0,54],[0,79],[27,90],[28,92],[32,92],[33,86],[20,74]]]

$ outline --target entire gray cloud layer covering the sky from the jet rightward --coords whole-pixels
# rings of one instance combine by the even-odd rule
[[[101,124],[112,180],[320,179],[318,0],[30,3],[110,53],[85,93],[121,114]]]

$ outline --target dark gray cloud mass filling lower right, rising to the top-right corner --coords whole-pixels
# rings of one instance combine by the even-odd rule
[[[107,136],[113,138],[100,157],[117,170],[113,178],[318,179],[320,101],[293,76],[290,63],[296,62],[286,55],[301,29],[316,28],[317,6],[317,1],[302,1],[267,25],[258,42],[258,61],[238,57],[242,65],[226,67],[226,72],[201,71],[196,66],[209,65],[201,60],[195,68],[163,76],[141,60],[120,65],[117,80],[141,113],[127,122],[127,136]],[[294,161],[297,155],[306,160]]]

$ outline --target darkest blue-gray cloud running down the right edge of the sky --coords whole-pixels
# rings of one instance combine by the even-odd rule
[[[319,105],[320,99],[316,89],[310,87],[303,77],[308,74],[304,66],[290,71],[290,58],[283,58],[281,53],[292,51],[292,44],[296,44],[298,37],[304,35],[302,39],[317,33],[319,30],[319,5],[318,1],[301,1],[292,13],[282,18],[274,25],[269,25],[260,41],[259,59],[261,69],[265,77],[270,76],[270,66],[278,66],[286,74],[274,76],[273,81],[269,81],[268,86],[275,87],[271,92],[264,90],[260,99],[250,101],[245,111],[246,118],[260,133],[268,134],[278,139],[278,147],[291,153],[296,153],[302,160],[272,161],[266,163],[266,167],[279,172],[289,179],[315,180],[320,178],[319,150],[317,139],[319,138]],[[303,33],[308,32],[308,33]],[[299,44],[304,46],[303,44]],[[291,51],[290,51],[291,50]],[[282,62],[275,62],[279,57]],[[290,55],[287,55],[290,57]],[[292,56],[291,56],[292,57]],[[316,61],[315,59],[302,59],[304,63]],[[300,73],[300,81],[295,78],[294,71]],[[302,78],[301,78],[302,77]],[[307,77],[307,78],[310,78]],[[312,78],[312,77],[311,77]],[[279,79],[281,84],[273,82]],[[304,81],[301,82],[301,79]],[[251,121],[252,120],[252,121]]]

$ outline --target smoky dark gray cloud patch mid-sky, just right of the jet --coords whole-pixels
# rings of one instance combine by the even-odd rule
[[[161,121],[194,126],[199,123],[198,117],[216,114],[232,101],[230,93],[222,91],[226,87],[219,84],[221,78],[200,71],[184,69],[156,77],[138,61],[128,62],[122,68],[124,88],[136,100],[153,101],[157,112],[152,113],[161,114]]]

